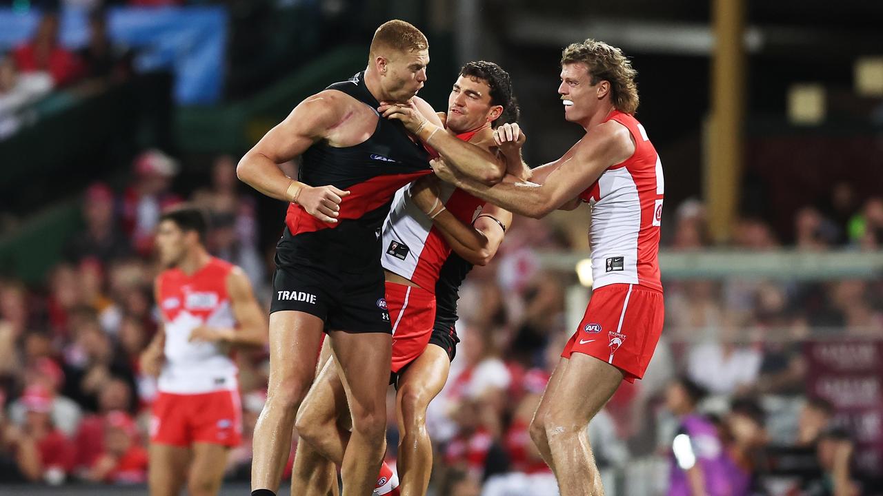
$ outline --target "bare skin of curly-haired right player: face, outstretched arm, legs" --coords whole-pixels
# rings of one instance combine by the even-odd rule
[[[601,79],[592,84],[588,69],[581,63],[564,64],[561,79],[558,93],[564,102],[565,118],[580,124],[585,136],[560,159],[535,170],[533,180],[540,184],[506,179],[488,187],[465,175],[462,164],[442,160],[433,162],[435,174],[515,214],[541,218],[556,208],[576,207],[579,193],[606,169],[628,160],[636,145],[623,124],[604,122],[615,109],[608,81]],[[439,152],[444,156],[442,149]],[[582,353],[562,357],[555,367],[533,417],[531,437],[555,472],[562,496],[604,494],[583,430],[622,380],[623,372],[615,366]],[[594,386],[586,388],[589,382]]]

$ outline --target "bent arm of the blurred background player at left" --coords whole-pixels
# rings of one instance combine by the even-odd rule
[[[245,272],[235,267],[227,275],[227,294],[238,323],[233,327],[200,326],[191,331],[190,341],[227,342],[238,346],[264,346],[268,342],[268,324],[260,304],[254,298],[252,283]]]

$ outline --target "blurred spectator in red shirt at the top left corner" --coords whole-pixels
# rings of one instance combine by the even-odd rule
[[[13,56],[20,71],[47,71],[55,86],[72,83],[82,72],[77,56],[58,44],[58,14],[55,12],[43,15],[34,38],[15,49]]]

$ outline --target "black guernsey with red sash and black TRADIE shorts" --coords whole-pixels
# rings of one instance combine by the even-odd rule
[[[328,89],[349,94],[376,113],[380,103],[363,76]],[[429,157],[401,122],[382,116],[374,133],[358,145],[331,147],[320,141],[309,147],[298,179],[312,186],[332,184],[351,194],[343,197],[336,223],[321,222],[291,204],[276,244],[270,312],[310,313],[327,330],[389,333],[381,225],[396,190],[432,172]]]

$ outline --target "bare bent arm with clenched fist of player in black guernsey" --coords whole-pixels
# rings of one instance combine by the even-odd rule
[[[346,105],[342,98],[340,92],[327,90],[301,101],[242,157],[236,168],[239,179],[270,198],[297,203],[321,221],[337,222],[341,199],[350,192],[300,183],[285,176],[279,164],[326,139],[328,131],[343,122]]]

